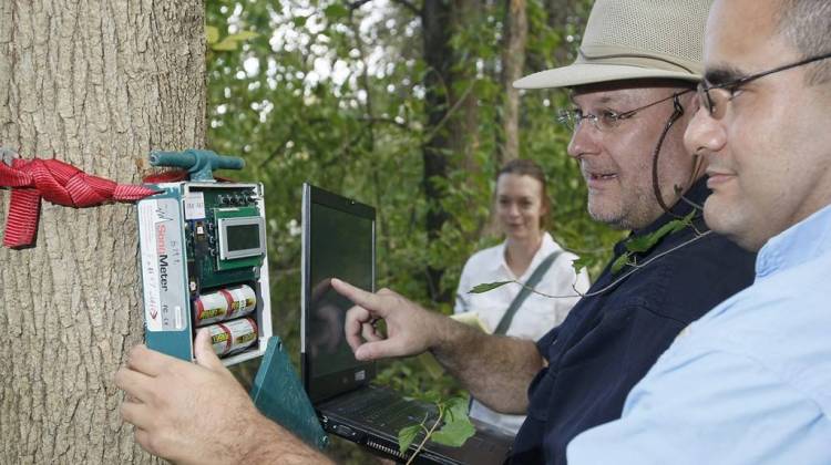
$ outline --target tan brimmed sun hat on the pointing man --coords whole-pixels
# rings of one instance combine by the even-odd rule
[[[597,0],[579,55],[568,66],[514,82],[517,89],[573,87],[609,81],[698,82],[712,0]]]

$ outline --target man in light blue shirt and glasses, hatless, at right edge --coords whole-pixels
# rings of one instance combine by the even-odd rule
[[[831,463],[831,2],[717,0],[690,153],[707,224],[759,250],[570,464]]]

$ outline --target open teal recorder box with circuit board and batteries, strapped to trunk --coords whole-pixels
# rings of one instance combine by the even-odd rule
[[[263,355],[271,337],[263,185],[217,183],[213,169],[243,161],[208,151],[154,152],[153,166],[189,180],[153,185],[138,202],[148,348],[193,360],[196,331],[211,331],[226,365]]]

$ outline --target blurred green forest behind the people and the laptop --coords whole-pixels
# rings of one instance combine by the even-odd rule
[[[574,60],[592,3],[206,3],[207,146],[244,157],[239,177],[265,184],[275,332],[289,353],[299,354],[304,182],[376,206],[378,288],[450,314],[468,257],[502,240],[496,169],[532,158],[548,178],[546,229],[599,271],[620,232],[586,213],[571,134],[556,121],[567,94],[511,86]],[[413,395],[458,392],[423,362],[386,363],[380,381]]]

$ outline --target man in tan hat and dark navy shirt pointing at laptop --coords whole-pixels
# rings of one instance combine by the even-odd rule
[[[514,463],[565,463],[574,436],[620,416],[626,394],[676,335],[751,282],[752,255],[710,234],[700,218],[697,208],[708,190],[701,164],[683,144],[698,107],[694,89],[700,80],[709,4],[597,0],[578,60],[515,83],[571,89],[573,107],[561,121],[574,131],[568,154],[587,183],[588,211],[615,228],[633,230],[615,247],[615,265],[565,322],[535,344],[484,334],[390,290],[373,294],[332,280],[357,304],[346,327],[357,359],[430,351],[485,405],[526,414]],[[376,319],[386,320],[387,334],[376,332]],[[120,372],[119,385],[140,400],[161,389],[191,395],[198,391],[217,400],[202,403],[214,409],[233,400],[233,409],[211,415],[125,403],[125,420],[138,426],[136,440],[145,448],[185,461],[193,459],[186,451],[195,443],[209,444],[208,453],[219,454],[217,458],[223,451],[237,451],[238,456],[271,461],[325,459],[257,414],[204,334],[197,338],[197,354],[202,366],[137,348],[131,360],[150,361]],[[178,374],[156,376],[164,388],[153,388],[131,381],[142,371]],[[223,435],[205,436],[227,430],[228,422],[257,426],[234,437],[233,448]]]

